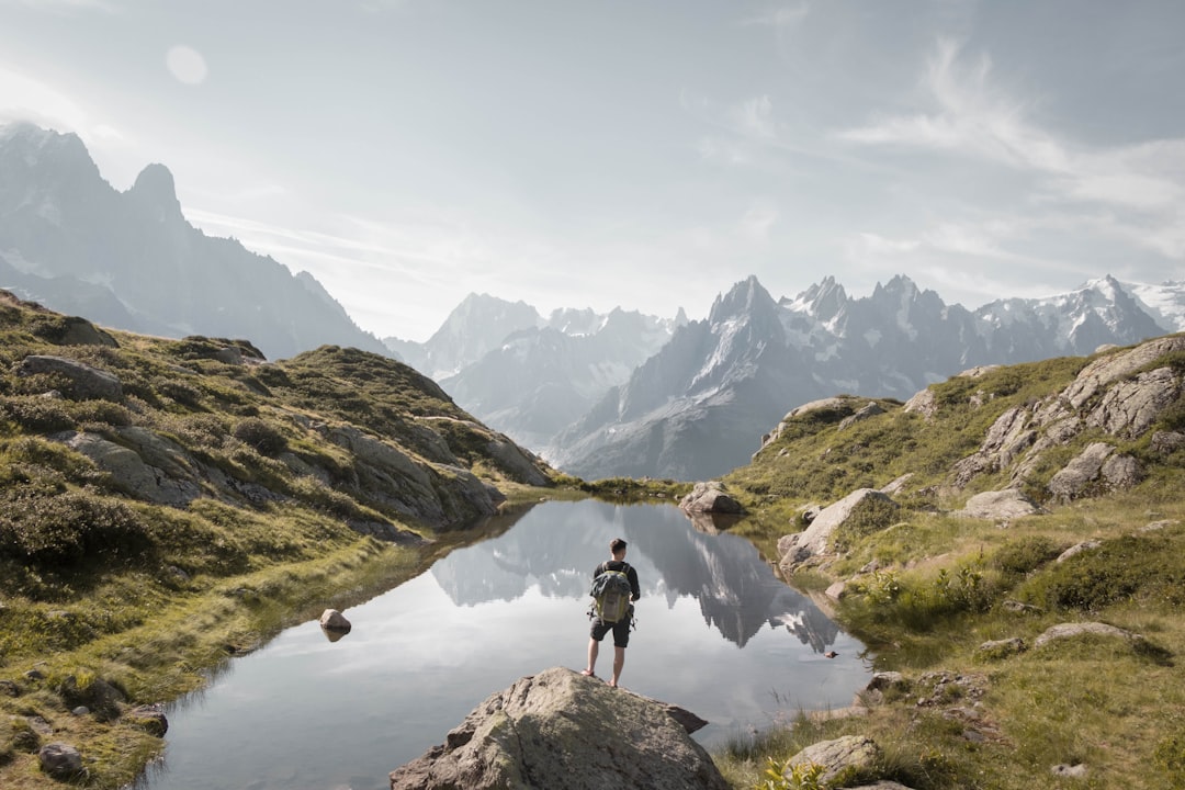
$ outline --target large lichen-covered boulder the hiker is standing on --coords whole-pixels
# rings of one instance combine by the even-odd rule
[[[666,706],[552,668],[491,695],[391,790],[729,790]]]

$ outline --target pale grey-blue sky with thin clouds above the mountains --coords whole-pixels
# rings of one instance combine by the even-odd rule
[[[1179,0],[0,0],[0,122],[427,340],[468,294],[705,317],[1185,280]],[[2,246],[2,244],[0,244]]]

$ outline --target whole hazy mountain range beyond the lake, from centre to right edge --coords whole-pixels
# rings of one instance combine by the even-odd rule
[[[907,399],[978,365],[1089,354],[1179,330],[1185,283],[1106,276],[969,310],[905,276],[864,298],[826,277],[777,301],[750,277],[705,321],[681,311],[670,321],[621,311],[544,320],[521,302],[470,295],[427,343],[385,342],[564,471],[700,480],[747,463],[762,432],[809,400]]]

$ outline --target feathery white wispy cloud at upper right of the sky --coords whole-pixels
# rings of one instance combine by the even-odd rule
[[[1004,166],[1024,176],[1016,181],[1016,205],[1035,213],[1006,236],[947,225],[918,237],[920,245],[999,259],[1023,231],[1065,231],[1072,224],[1083,237],[1101,235],[1185,258],[1185,139],[1103,147],[1061,137],[993,83],[991,58],[967,57],[952,40],[939,41],[922,88],[929,107],[885,115],[837,137]]]

